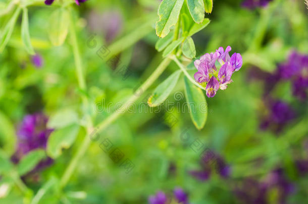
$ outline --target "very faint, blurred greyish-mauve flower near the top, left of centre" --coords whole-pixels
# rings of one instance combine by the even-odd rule
[[[107,43],[117,37],[123,27],[123,17],[119,11],[96,13],[91,11],[88,16],[91,32],[103,34]]]

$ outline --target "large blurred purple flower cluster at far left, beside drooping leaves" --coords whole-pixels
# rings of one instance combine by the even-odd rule
[[[19,160],[28,152],[35,149],[46,149],[47,140],[53,129],[46,127],[48,118],[42,113],[26,115],[17,131],[18,144],[15,154],[12,156],[12,161],[18,163]],[[45,164],[50,164],[52,160],[48,158],[43,161]],[[43,164],[39,164],[42,166]]]

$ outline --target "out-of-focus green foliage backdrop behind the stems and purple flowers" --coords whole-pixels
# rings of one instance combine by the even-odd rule
[[[1,1],[0,10],[4,11],[9,2]],[[28,13],[31,42],[42,58],[42,66],[36,67],[24,48],[21,16],[0,54],[0,147],[1,154],[6,155],[4,158],[11,157],[17,149],[18,129],[25,115],[44,113],[50,118],[68,110],[83,125],[84,112],[87,112],[94,125],[98,124],[163,60],[162,52],[155,49],[159,38],[153,27],[158,20],[160,1],[89,0],[80,7],[72,4],[86,76],[87,93],[84,93],[78,88],[70,45],[72,37],[68,36],[61,46],[53,46],[48,38],[52,32],[48,28],[49,17],[61,2],[56,1],[52,6],[41,2],[29,6]],[[192,36],[197,56],[230,45],[232,53],[241,53],[243,57],[243,66],[234,74],[234,82],[228,89],[207,98],[209,111],[203,129],[194,127],[187,110],[178,110],[185,103],[183,80],[179,80],[168,97],[169,102],[179,107],[173,105],[173,111],[161,109],[153,113],[150,110],[157,108],[147,106],[123,114],[90,144],[64,189],[57,185],[48,188],[39,203],[147,203],[149,195],[158,190],[171,192],[175,186],[185,189],[189,203],[248,203],[237,196],[235,186],[247,178],[264,181],[277,168],[283,169],[295,190],[282,202],[278,185],[267,192],[266,203],[307,203],[308,177],[296,165],[296,161],[308,160],[307,98],[296,98],[288,80],[279,81],[265,96],[269,90],[264,79],[251,80],[249,76],[255,70],[269,75],[275,73],[278,64],[287,62],[293,50],[308,54],[308,10],[299,0],[274,0],[265,8],[254,9],[243,8],[241,3],[240,0],[214,1],[212,14],[206,14],[211,23]],[[2,33],[12,14],[0,17]],[[116,50],[116,61],[109,63],[97,55],[102,45]],[[122,65],[129,70],[125,78],[117,72]],[[150,89],[142,92],[136,107],[146,102],[146,96],[176,70],[178,66],[171,62]],[[89,100],[87,110],[81,105],[82,97]],[[271,111],[267,98],[284,101],[296,113],[296,117],[283,123],[280,131],[260,128]],[[111,111],[107,111],[108,103],[113,104]],[[166,120],[169,114],[177,118],[175,124]],[[56,123],[65,123],[72,117],[57,118]],[[30,203],[44,184],[50,180],[58,182],[82,145],[85,131],[80,127],[73,144],[52,164],[23,176],[15,175],[11,169],[6,173],[7,161],[0,159],[0,203]],[[190,135],[190,139],[183,141],[183,134]],[[114,162],[101,149],[101,142],[106,138],[124,154],[123,159],[133,163],[129,173],[121,162]],[[224,158],[230,166],[228,178],[213,173],[206,181],[199,181],[189,174],[190,170],[199,168],[199,153],[190,147],[196,139]],[[13,164],[13,169],[16,165]],[[21,191],[16,180],[28,189]]]

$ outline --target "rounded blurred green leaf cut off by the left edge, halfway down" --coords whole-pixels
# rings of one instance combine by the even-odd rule
[[[16,134],[15,128],[9,118],[0,112],[0,144],[7,154],[12,155],[15,151]]]

